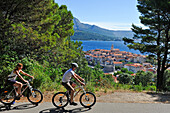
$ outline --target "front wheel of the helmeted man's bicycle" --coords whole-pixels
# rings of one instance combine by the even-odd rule
[[[96,103],[96,96],[91,92],[83,93],[80,96],[80,104],[85,108],[90,108]]]

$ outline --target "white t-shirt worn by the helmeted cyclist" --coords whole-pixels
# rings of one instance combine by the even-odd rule
[[[69,82],[71,79],[71,76],[74,75],[75,72],[72,69],[67,70],[62,78],[62,82]]]

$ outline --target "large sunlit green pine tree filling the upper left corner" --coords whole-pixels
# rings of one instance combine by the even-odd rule
[[[1,0],[0,52],[42,58],[73,35],[73,16],[54,0]]]

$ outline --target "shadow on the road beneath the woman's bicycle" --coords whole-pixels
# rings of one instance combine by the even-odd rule
[[[14,107],[13,107],[13,105],[11,105],[11,106],[0,105],[0,112],[6,111],[6,110],[31,109],[31,108],[34,108],[34,107],[36,107],[36,105],[33,105],[33,104],[22,104],[22,105],[17,105],[17,106],[14,106]]]

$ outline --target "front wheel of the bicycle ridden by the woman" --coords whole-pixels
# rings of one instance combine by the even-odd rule
[[[27,99],[32,104],[39,104],[43,100],[43,95],[38,89],[33,89],[32,93],[27,94]]]

